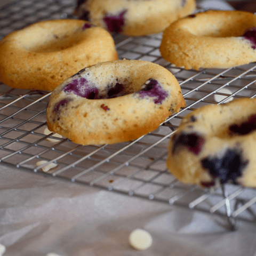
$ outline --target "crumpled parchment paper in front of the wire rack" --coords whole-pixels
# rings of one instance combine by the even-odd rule
[[[0,167],[0,243],[4,256],[253,256],[256,225]],[[132,230],[153,237],[146,251]]]

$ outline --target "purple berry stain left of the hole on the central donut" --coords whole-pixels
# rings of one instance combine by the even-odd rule
[[[94,86],[90,86],[89,82],[83,77],[74,79],[65,86],[63,91],[66,93],[74,93],[79,97],[91,100],[97,99],[99,94],[99,90]]]

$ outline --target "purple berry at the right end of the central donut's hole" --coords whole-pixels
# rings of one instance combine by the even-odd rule
[[[152,97],[155,104],[162,104],[163,100],[168,97],[168,93],[162,88],[155,79],[149,79],[145,87],[138,92],[140,98]]]

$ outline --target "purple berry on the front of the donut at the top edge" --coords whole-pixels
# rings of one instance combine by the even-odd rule
[[[103,21],[105,22],[109,32],[121,33],[123,31],[124,14],[126,12],[127,12],[127,10],[124,10],[117,15],[106,15],[103,18]]]

